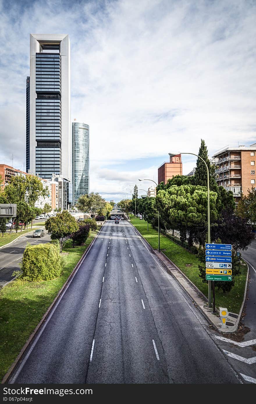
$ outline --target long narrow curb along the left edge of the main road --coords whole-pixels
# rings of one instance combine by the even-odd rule
[[[92,241],[90,242],[90,244],[88,245],[88,247],[86,248],[86,250],[84,251],[84,254],[82,255],[82,257],[80,258],[80,260],[78,261],[78,263],[76,264],[75,268],[73,269],[73,271],[71,272],[71,274],[69,275],[69,277],[67,278],[66,282],[64,283],[64,285],[62,286],[62,288],[59,290],[57,296],[55,297],[54,301],[52,302],[52,304],[48,307],[47,311],[45,312],[44,316],[42,317],[42,319],[40,320],[40,322],[38,323],[38,325],[36,326],[36,328],[34,329],[34,331],[31,333],[31,335],[29,336],[29,338],[27,339],[25,345],[21,348],[21,351],[19,352],[17,358],[15,359],[15,361],[13,362],[13,364],[11,364],[10,368],[8,369],[8,371],[6,372],[6,374],[4,375],[1,384],[6,384],[8,383],[8,379],[10,378],[10,376],[12,375],[13,371],[17,368],[20,360],[23,358],[24,354],[26,353],[27,349],[29,348],[31,342],[34,340],[34,338],[36,337],[37,333],[39,332],[40,328],[42,327],[42,325],[46,322],[50,312],[52,311],[52,309],[55,307],[57,301],[61,298],[61,296],[63,295],[64,290],[69,286],[69,284],[71,283],[73,276],[76,274],[76,272],[78,271],[82,261],[86,258],[87,253],[89,252],[90,248],[92,247],[92,244],[94,242],[94,240],[98,237],[102,227],[105,225],[106,221],[104,221],[103,225],[101,226],[101,228],[99,229],[97,235],[92,239]]]

